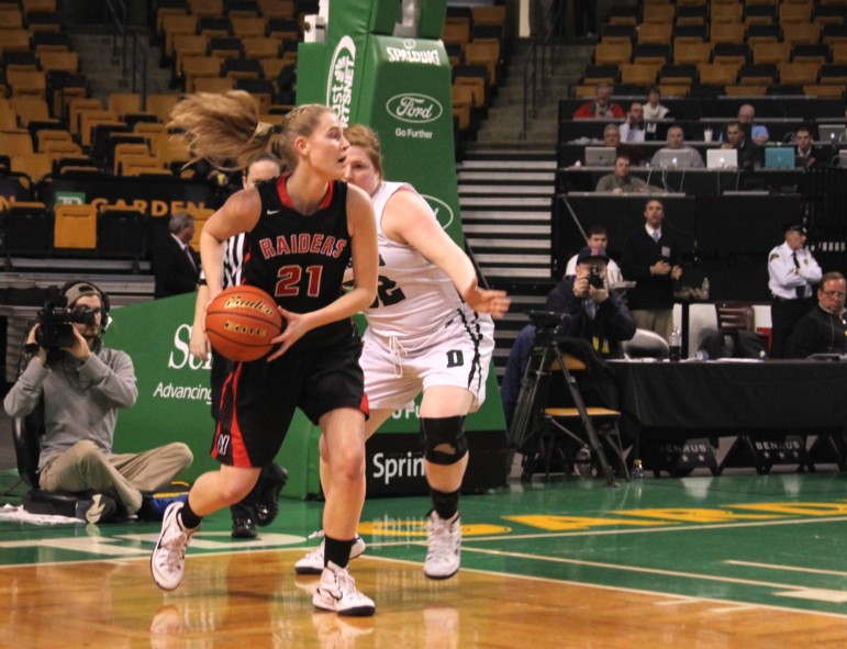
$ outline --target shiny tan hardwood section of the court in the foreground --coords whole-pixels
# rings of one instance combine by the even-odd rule
[[[189,557],[172,593],[147,561],[42,563],[0,570],[4,647],[154,649],[843,646],[840,616],[462,570],[426,580],[420,563],[363,557],[371,618],[311,605],[317,578],[294,551]],[[794,642],[802,634],[802,641]],[[793,638],[793,640],[792,640]]]

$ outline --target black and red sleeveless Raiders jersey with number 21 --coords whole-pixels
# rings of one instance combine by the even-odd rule
[[[286,181],[257,184],[261,216],[247,233],[244,258],[245,283],[274,295],[294,313],[323,309],[342,294],[344,270],[350,259],[347,233],[347,183],[330,183],[317,210],[304,216],[292,206]],[[309,332],[300,340],[323,347],[353,334],[345,318]]]

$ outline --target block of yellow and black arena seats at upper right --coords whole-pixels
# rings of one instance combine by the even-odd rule
[[[839,85],[843,94],[844,82],[838,76],[823,74],[822,66],[837,63],[833,48],[847,43],[845,23],[847,5],[837,0],[640,2],[638,8],[612,11],[601,29],[593,64],[616,65],[615,76],[621,82],[628,83],[623,78],[626,76],[636,80],[634,85],[646,87],[653,78],[650,65],[660,63],[661,48],[666,48],[670,52],[666,58],[676,64],[739,65],[738,69],[725,69],[723,74],[706,68],[705,75],[692,75],[688,83],[680,83],[689,87],[687,94],[715,97],[723,94],[727,86],[744,83],[774,88],[795,85],[809,87],[810,92],[818,86]],[[647,46],[656,48],[649,51],[650,56],[639,51]],[[814,57],[807,56],[809,46],[815,46]],[[800,79],[793,68],[783,68],[782,79],[783,69],[750,76],[745,67],[801,61],[810,67],[803,69]],[[818,64],[818,69],[813,70],[811,64]],[[638,72],[634,66],[645,69]],[[582,83],[592,85],[592,78],[586,76]],[[824,93],[837,94],[834,90]],[[587,94],[584,89],[573,93]]]

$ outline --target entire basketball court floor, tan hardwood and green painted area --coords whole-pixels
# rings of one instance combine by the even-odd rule
[[[11,473],[3,473],[8,482]],[[5,485],[7,490],[9,485]],[[5,496],[4,502],[14,502]],[[158,525],[0,519],[0,647],[844,647],[847,477],[512,482],[461,501],[462,567],[424,578],[428,499],[374,499],[352,562],[372,618],[311,605],[322,504],[283,500],[256,540],[227,512],[172,593],[151,580]]]

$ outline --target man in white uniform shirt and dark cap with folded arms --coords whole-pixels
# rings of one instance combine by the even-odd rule
[[[813,306],[812,286],[821,281],[821,267],[806,248],[806,228],[801,220],[784,226],[785,240],[768,255],[770,304],[770,357],[783,358],[794,326]]]

